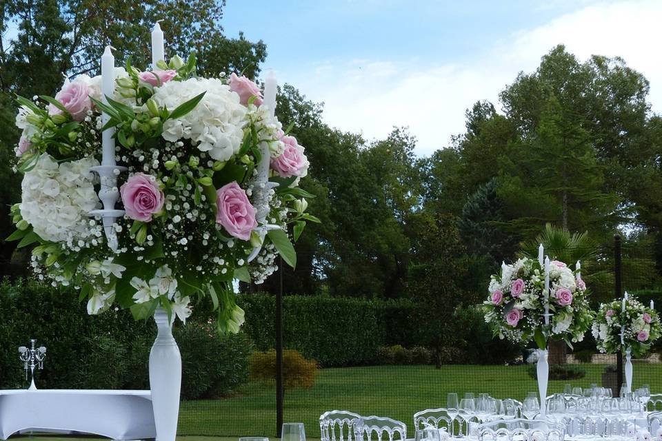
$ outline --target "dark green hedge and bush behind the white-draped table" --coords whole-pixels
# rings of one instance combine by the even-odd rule
[[[40,389],[149,389],[156,327],[128,310],[88,316],[71,292],[39,283],[0,284],[0,388],[28,386],[17,348],[37,338],[48,349]],[[219,338],[207,323],[175,325],[183,361],[182,398],[231,393],[248,379],[248,338]]]

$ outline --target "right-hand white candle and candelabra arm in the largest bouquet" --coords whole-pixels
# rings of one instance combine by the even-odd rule
[[[269,114],[273,118],[276,114],[276,93],[278,90],[278,83],[273,71],[270,71],[264,81],[264,105],[269,109]],[[267,215],[269,214],[269,194],[272,189],[278,186],[278,183],[269,181],[269,163],[270,152],[268,143],[261,143],[260,145],[260,162],[257,164],[257,177],[254,181],[255,198],[254,203],[256,209],[256,220],[258,227],[255,229],[260,238],[260,244],[264,242],[264,238],[270,229],[279,229],[279,225],[273,225],[268,222]],[[253,251],[248,256],[250,262],[257,257],[262,245],[253,248]]]

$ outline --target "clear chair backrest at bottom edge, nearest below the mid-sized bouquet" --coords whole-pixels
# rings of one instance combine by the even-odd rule
[[[479,441],[563,441],[565,426],[546,420],[494,420],[478,427]]]

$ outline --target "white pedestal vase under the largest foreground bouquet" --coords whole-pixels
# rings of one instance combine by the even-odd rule
[[[150,351],[150,389],[154,407],[157,441],[174,441],[179,418],[181,390],[181,356],[172,337],[172,322],[168,313],[157,308],[154,313],[159,333]]]

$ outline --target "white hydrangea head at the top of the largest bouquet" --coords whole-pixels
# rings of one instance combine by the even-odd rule
[[[170,142],[190,139],[201,152],[209,152],[217,161],[228,161],[239,152],[247,123],[247,110],[228,85],[219,79],[169,81],[157,88],[152,98],[172,111],[202,92],[206,92],[204,98],[191,112],[165,121],[163,139]]]

